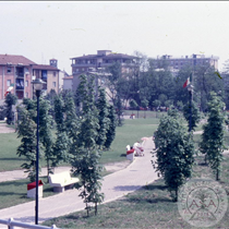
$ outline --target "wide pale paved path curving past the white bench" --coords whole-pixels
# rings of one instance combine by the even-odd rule
[[[154,142],[152,137],[144,143],[145,156],[136,157],[134,161],[118,172],[104,178],[101,192],[105,193],[105,202],[114,201],[130,192],[157,179],[152,166],[152,149]],[[39,200],[39,222],[53,217],[63,216],[85,208],[79,190],[70,190],[50,197]],[[10,208],[0,209],[0,218],[34,224],[35,201],[20,204]],[[5,228],[0,225],[0,228]]]

